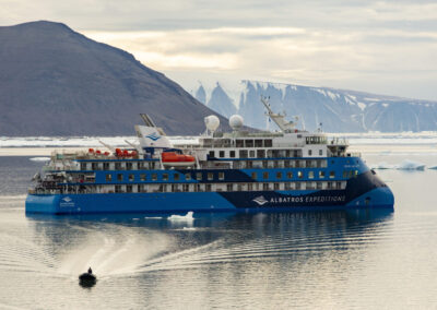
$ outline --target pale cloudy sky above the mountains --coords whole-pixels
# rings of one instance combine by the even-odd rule
[[[198,81],[331,86],[437,100],[437,3],[356,0],[0,0],[0,25],[62,22]]]

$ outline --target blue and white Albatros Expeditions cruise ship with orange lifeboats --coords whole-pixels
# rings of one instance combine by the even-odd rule
[[[138,143],[54,152],[37,172],[27,213],[265,212],[393,208],[387,184],[347,142],[298,130],[261,98],[276,131],[248,131],[238,115],[232,132],[206,117],[196,144],[172,144],[147,115]]]

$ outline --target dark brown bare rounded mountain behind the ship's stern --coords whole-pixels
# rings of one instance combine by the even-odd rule
[[[199,134],[214,114],[132,55],[64,24],[0,27],[0,135],[133,134],[140,112],[168,134]]]

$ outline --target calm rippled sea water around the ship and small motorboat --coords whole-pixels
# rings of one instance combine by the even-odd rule
[[[0,308],[437,308],[437,170],[378,171],[394,212],[26,216],[40,166],[0,157]]]

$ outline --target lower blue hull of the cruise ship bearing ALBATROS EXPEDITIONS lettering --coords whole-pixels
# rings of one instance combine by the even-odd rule
[[[26,199],[26,213],[292,212],[393,208],[393,194],[387,187],[375,188],[352,200],[347,198],[346,191],[29,194]]]

